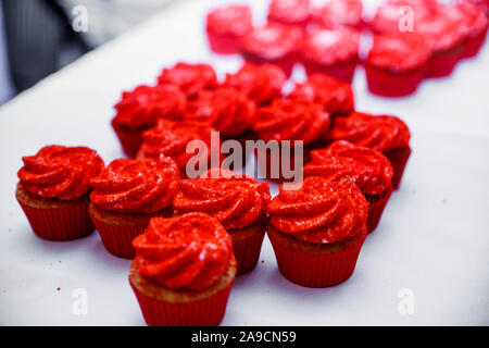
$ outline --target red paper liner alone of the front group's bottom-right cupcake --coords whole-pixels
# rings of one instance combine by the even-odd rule
[[[305,287],[328,287],[347,281],[353,274],[365,240],[365,235],[362,235],[355,243],[346,244],[342,251],[309,253],[283,247],[274,235],[277,233],[280,232],[268,227],[268,238],[280,273],[290,282]]]

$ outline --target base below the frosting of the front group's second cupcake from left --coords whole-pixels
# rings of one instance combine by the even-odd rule
[[[99,209],[93,203],[90,203],[88,212],[105,249],[124,259],[134,259],[136,256],[131,241],[145,232],[151,217],[172,215],[171,209],[152,214],[125,214]]]

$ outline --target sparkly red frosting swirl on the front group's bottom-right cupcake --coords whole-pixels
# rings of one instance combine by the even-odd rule
[[[281,233],[317,245],[366,234],[368,202],[350,177],[311,176],[296,189],[288,186],[280,186],[267,209],[271,224]]]

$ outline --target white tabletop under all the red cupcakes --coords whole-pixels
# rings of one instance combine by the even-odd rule
[[[262,2],[254,4],[263,18]],[[188,60],[211,62],[221,76],[237,70],[239,57],[206,47],[204,12],[216,3],[179,1],[0,109],[0,324],[145,324],[127,279],[130,261],[106,252],[97,233],[68,243],[37,238],[14,198],[16,172],[22,156],[48,144],[85,145],[106,163],[122,157],[109,124],[112,105],[122,89],[154,82],[163,66]],[[451,77],[428,80],[405,99],[369,95],[359,71],[358,109],[397,114],[411,127],[401,189],[353,276],[333,288],[287,282],[265,238],[258,268],[236,281],[222,324],[489,324],[488,77],[489,45]],[[79,288],[86,315],[73,312]],[[412,314],[399,311],[405,294]]]

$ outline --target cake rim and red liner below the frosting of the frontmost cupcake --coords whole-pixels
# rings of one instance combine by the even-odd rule
[[[236,270],[233,258],[226,272],[211,287],[203,290],[171,290],[143,277],[133,262],[129,283],[148,325],[215,326],[226,312]]]

